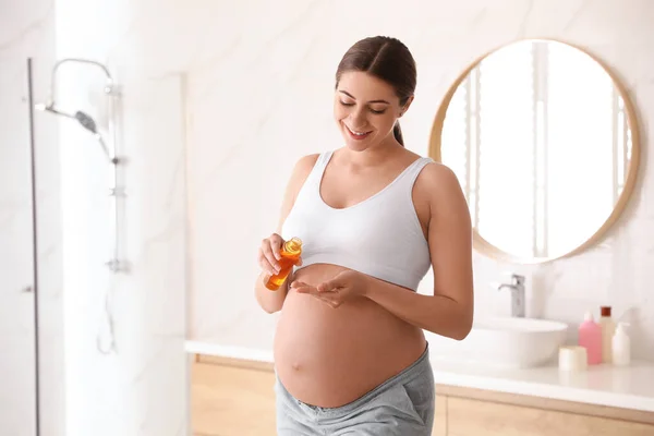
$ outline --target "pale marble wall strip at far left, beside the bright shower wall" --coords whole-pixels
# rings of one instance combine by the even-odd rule
[[[53,2],[0,2],[0,434],[37,429],[36,311],[27,58],[35,98],[55,59]],[[64,435],[63,303],[57,124],[34,120],[39,405],[44,436]],[[27,292],[25,290],[28,290]]]

